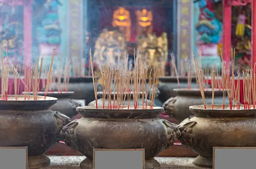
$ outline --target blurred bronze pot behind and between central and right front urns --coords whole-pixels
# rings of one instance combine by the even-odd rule
[[[203,104],[200,90],[197,90],[197,88],[192,88],[190,90],[187,88],[175,88],[173,89],[173,92],[175,92],[177,96],[169,98],[164,102],[163,107],[169,116],[173,116],[179,122],[194,116],[192,112],[189,111],[189,106]],[[212,104],[212,89],[205,90],[205,103]],[[228,96],[226,96],[225,104],[228,103]],[[214,104],[223,104],[223,90],[220,91],[215,89]]]

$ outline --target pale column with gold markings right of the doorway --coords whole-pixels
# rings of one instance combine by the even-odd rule
[[[191,0],[178,0],[178,23],[177,23],[177,68],[180,70],[182,61],[190,60],[191,50],[191,28],[192,28],[192,7]]]

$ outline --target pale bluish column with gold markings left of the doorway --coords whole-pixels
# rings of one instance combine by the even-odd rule
[[[81,75],[83,57],[83,0],[69,0],[69,58],[73,63],[72,76]],[[74,66],[75,65],[75,66]]]

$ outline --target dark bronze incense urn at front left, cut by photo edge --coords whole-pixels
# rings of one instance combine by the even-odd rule
[[[33,99],[33,97],[31,98]],[[27,146],[30,169],[50,165],[44,154],[58,140],[61,128],[71,119],[49,109],[57,98],[38,96],[38,100],[24,101],[24,95],[8,96],[0,100],[0,146]]]

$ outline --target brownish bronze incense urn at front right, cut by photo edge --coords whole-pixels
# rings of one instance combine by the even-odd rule
[[[241,105],[243,107],[243,105]],[[193,161],[195,166],[212,168],[212,147],[255,147],[255,109],[230,110],[229,105],[190,106],[195,115],[185,119],[178,127],[182,132],[179,140],[189,146],[199,156]]]

